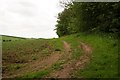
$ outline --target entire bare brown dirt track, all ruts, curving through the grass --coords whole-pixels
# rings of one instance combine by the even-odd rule
[[[47,58],[41,60],[36,60],[35,62],[31,62],[26,64],[25,67],[13,72],[12,74],[8,73],[5,75],[6,78],[14,78],[18,76],[23,76],[25,73],[29,72],[37,72],[39,70],[44,70],[50,68],[53,64],[55,64],[58,60],[65,58],[68,60],[67,63],[63,64],[63,69],[59,71],[51,72],[49,77],[57,77],[57,78],[69,78],[70,74],[74,69],[82,68],[84,65],[90,60],[90,55],[92,53],[92,48],[81,42],[80,48],[83,49],[84,54],[80,56],[80,59],[73,61],[71,59],[71,45],[66,41],[63,41],[64,45],[64,53],[60,54],[60,52],[52,53]]]

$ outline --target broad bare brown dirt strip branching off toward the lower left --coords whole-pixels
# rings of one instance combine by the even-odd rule
[[[5,77],[6,78],[14,78],[14,77],[22,76],[25,73],[36,72],[39,70],[47,69],[47,68],[51,67],[52,64],[54,64],[60,58],[60,56],[61,56],[61,54],[59,52],[53,53],[52,55],[43,59],[42,61],[37,60],[35,62],[31,62],[31,63],[27,64],[26,67],[15,71],[14,73],[12,73],[12,75],[8,74]]]

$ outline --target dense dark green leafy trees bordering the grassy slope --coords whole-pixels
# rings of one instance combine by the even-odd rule
[[[120,31],[119,2],[70,2],[58,14],[56,30],[59,37],[79,32],[110,33]]]

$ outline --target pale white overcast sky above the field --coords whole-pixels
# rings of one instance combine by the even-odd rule
[[[53,38],[59,0],[0,0],[0,34]]]

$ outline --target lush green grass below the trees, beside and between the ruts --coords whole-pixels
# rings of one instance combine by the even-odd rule
[[[57,40],[59,40],[57,42]],[[74,34],[54,39],[55,47],[62,49],[62,41],[70,43],[72,47],[72,59],[79,59],[83,51],[78,48],[80,42],[89,44],[92,49],[90,63],[83,70],[73,72],[73,77],[85,78],[114,78],[118,77],[118,43],[117,39],[97,34]],[[60,44],[61,43],[61,44]],[[52,66],[54,70],[62,69],[62,63],[58,62]]]

